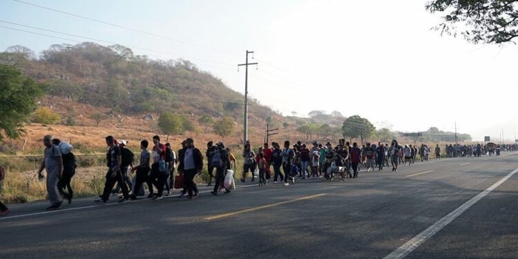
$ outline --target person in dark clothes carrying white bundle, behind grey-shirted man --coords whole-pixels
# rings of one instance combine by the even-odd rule
[[[59,193],[61,193],[61,195],[68,200],[68,204],[71,204],[74,191],[70,185],[70,182],[75,175],[75,168],[77,166],[75,155],[70,150],[70,144],[68,143],[54,139],[52,140],[52,144],[59,147],[59,150],[61,151],[61,158],[63,160],[63,175],[57,182],[57,189],[59,190]],[[65,189],[68,189],[68,193],[65,193]]]

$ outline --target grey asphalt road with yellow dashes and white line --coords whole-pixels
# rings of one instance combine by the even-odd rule
[[[0,218],[0,258],[518,258],[518,153]],[[248,183],[249,184],[249,183]]]

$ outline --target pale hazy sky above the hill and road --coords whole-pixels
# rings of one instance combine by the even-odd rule
[[[518,46],[441,37],[430,30],[439,15],[423,0],[23,1],[178,41],[10,0],[0,1],[0,20],[155,50],[134,49],[153,59],[189,59],[241,93],[237,64],[253,50],[259,69],[249,70],[249,93],[284,115],[336,110],[400,131],[453,131],[457,122],[475,140],[518,133]],[[0,50],[20,44],[39,53],[58,43],[76,42],[0,28]]]

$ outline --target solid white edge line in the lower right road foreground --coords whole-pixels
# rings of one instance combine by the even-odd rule
[[[515,169],[515,171],[510,172],[508,175],[506,175],[506,177],[502,178],[485,191],[482,191],[477,196],[474,196],[473,198],[471,198],[471,200],[468,200],[468,202],[462,204],[461,207],[455,209],[450,214],[445,215],[444,218],[441,218],[439,221],[432,224],[432,226],[428,227],[428,229],[425,229],[425,231],[419,233],[417,236],[403,244],[401,247],[390,253],[388,256],[385,256],[385,259],[405,258],[405,256],[407,256],[409,253],[412,253],[412,251],[414,251],[414,249],[423,244],[423,242],[434,236],[435,233],[439,232],[441,229],[446,227],[446,225],[450,224],[450,222],[459,217],[459,215],[470,209],[470,207],[479,202],[479,200],[488,195],[488,193],[490,193],[492,190],[500,186],[500,184],[506,182],[506,180],[508,180],[512,175],[514,175],[517,172],[518,169]]]

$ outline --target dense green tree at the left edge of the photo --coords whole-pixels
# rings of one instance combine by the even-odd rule
[[[37,107],[36,100],[45,93],[45,86],[29,79],[12,66],[0,65],[0,141],[16,138]]]

